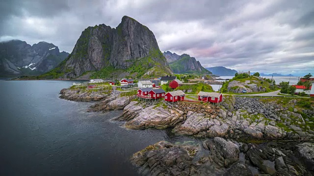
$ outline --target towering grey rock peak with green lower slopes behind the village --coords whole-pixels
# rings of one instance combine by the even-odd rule
[[[64,78],[77,78],[87,71],[120,69],[124,75],[171,74],[166,59],[159,50],[154,33],[136,20],[124,16],[111,28],[105,24],[86,28],[70,57],[52,73]],[[163,70],[163,71],[161,71]],[[102,77],[107,77],[108,71]],[[49,76],[49,75],[48,75]]]

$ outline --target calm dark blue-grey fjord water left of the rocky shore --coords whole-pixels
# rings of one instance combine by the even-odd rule
[[[127,130],[122,111],[86,112],[92,103],[58,98],[73,81],[0,80],[1,176],[136,176],[131,154],[160,140],[188,140],[169,130]]]

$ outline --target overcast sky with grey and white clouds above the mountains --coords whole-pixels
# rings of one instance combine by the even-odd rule
[[[314,75],[314,0],[1,0],[0,41],[40,41],[72,52],[88,26],[129,16],[161,51],[204,67]]]

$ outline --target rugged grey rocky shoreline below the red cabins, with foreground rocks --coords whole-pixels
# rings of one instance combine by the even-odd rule
[[[87,111],[123,110],[114,120],[125,121],[129,129],[172,128],[175,135],[204,140],[196,146],[165,141],[148,146],[131,156],[142,175],[314,174],[314,110],[300,110],[295,100],[283,106],[226,96],[219,107],[184,102],[170,107],[162,101],[152,104],[119,96],[118,91],[93,94],[62,89],[60,93],[67,100],[98,101]],[[307,116],[304,122],[300,113]],[[302,141],[285,145],[285,140]]]

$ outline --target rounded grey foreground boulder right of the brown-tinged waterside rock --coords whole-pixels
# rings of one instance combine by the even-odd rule
[[[210,151],[210,158],[220,167],[229,167],[239,159],[239,147],[231,141],[214,137],[203,142],[205,149]]]

